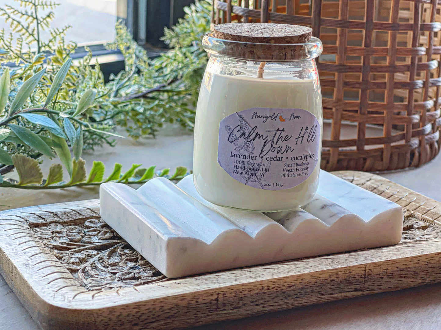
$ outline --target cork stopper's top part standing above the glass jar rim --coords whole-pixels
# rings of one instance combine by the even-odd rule
[[[306,26],[276,23],[227,23],[214,26],[219,39],[259,44],[300,44],[311,40]]]

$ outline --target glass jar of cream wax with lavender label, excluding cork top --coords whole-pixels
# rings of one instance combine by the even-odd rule
[[[210,58],[194,128],[198,193],[217,205],[262,212],[310,202],[321,158],[314,61],[321,41],[262,44],[209,33],[202,44]]]

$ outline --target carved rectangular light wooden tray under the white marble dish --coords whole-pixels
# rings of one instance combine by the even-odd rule
[[[334,174],[403,206],[399,244],[167,279],[88,200],[0,212],[0,272],[43,329],[183,328],[441,282],[441,203]]]

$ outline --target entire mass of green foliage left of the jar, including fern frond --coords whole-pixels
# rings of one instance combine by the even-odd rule
[[[155,176],[178,180],[187,174],[182,167],[170,176],[169,169],[155,172],[154,166],[139,169],[137,164],[121,174],[122,166],[115,164],[103,181],[104,164],[94,161],[87,176],[81,154],[104,143],[114,146],[116,125],[134,139],[155,136],[166,122],[193,128],[207,62],[200,40],[209,31],[211,3],[201,0],[187,7],[185,18],[164,31],[172,49],[154,60],[118,23],[116,40],[108,48],[122,52],[125,70],[106,84],[91,51],[72,62],[76,44],[64,40],[69,26],[51,28],[52,10],[59,4],[15,1],[19,8],[0,8],[0,16],[19,36],[14,39],[0,30],[0,186],[50,189],[107,181],[142,183]],[[49,32],[48,40],[41,38],[43,30]],[[10,70],[11,63],[15,66]],[[62,163],[50,167],[46,180],[38,165],[43,155],[58,156]],[[63,167],[68,182],[63,181]],[[4,180],[2,174],[14,168],[20,180]]]

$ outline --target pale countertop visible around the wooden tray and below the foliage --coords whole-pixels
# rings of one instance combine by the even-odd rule
[[[116,148],[104,147],[84,154],[86,167],[93,160],[101,160],[110,172],[114,162],[123,170],[132,163],[143,167],[157,165],[157,169],[183,165],[191,168],[193,137],[173,129],[157,139],[119,141]],[[124,157],[121,158],[122,150]],[[43,173],[51,164],[46,162]],[[441,201],[441,154],[419,169],[382,174],[430,198]],[[106,172],[106,173],[107,173]],[[30,205],[49,204],[98,198],[97,187],[69,188],[51,191],[0,189],[0,204],[10,209]],[[39,327],[26,312],[18,298],[0,275],[0,330],[37,330]],[[224,321],[194,330],[435,330],[441,329],[441,283],[416,288],[379,293],[326,304],[290,309],[235,321]]]

